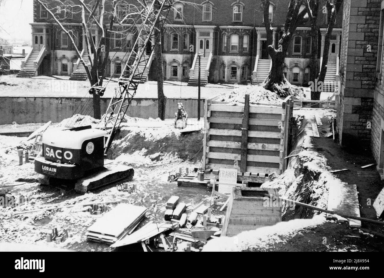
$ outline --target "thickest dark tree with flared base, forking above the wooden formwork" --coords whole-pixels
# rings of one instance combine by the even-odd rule
[[[291,84],[285,78],[284,65],[286,51],[288,50],[289,42],[295,32],[297,26],[301,25],[308,18],[306,9],[302,5],[301,0],[290,0],[288,11],[283,27],[283,34],[278,41],[277,49],[273,45],[273,28],[269,20],[269,0],[262,0],[263,17],[266,31],[266,42],[268,45],[268,54],[272,60],[271,70],[264,80],[262,86],[270,91],[276,92],[278,96],[285,97],[293,94]]]

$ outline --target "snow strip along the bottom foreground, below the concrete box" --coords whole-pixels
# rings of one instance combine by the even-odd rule
[[[257,250],[271,250],[276,243],[290,242],[300,230],[316,227],[326,221],[324,215],[316,215],[312,219],[295,219],[280,222],[273,226],[246,231],[235,237],[220,237],[210,240],[204,246],[204,252],[237,252],[256,248]]]

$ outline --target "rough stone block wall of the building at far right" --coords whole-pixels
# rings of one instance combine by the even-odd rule
[[[338,137],[345,146],[369,146],[374,105],[381,0],[344,1],[337,99]]]

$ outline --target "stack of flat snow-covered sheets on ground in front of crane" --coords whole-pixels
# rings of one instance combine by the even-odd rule
[[[145,207],[119,204],[87,229],[87,239],[113,244],[125,235],[132,233],[146,212]]]

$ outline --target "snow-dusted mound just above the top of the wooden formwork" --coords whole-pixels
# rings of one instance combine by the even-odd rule
[[[283,99],[277,94],[264,89],[262,86],[248,85],[236,88],[234,91],[218,96],[213,100],[229,102],[231,105],[240,105],[244,103],[245,94],[249,94],[249,101],[252,104],[281,104]]]

